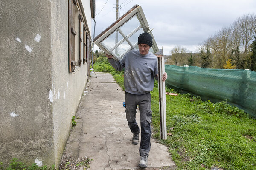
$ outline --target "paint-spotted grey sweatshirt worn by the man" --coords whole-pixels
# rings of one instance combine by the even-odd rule
[[[134,49],[118,62],[114,59],[108,61],[117,71],[125,68],[124,86],[128,93],[146,94],[153,90],[158,69],[157,57],[151,52],[143,56],[139,50]]]

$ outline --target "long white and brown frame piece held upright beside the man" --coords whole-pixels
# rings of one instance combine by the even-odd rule
[[[166,94],[165,82],[162,81],[164,71],[164,56],[157,56],[158,59],[158,92],[159,92],[159,113],[160,113],[160,127],[161,138],[167,139],[166,129]]]

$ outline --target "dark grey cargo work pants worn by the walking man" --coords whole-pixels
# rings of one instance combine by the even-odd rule
[[[140,156],[146,155],[150,151],[150,138],[151,138],[151,127],[152,122],[152,111],[151,111],[151,95],[150,92],[142,95],[130,94],[125,92],[125,112],[128,125],[131,132],[134,134],[140,133],[140,128],[135,120],[136,109],[139,105],[140,109],[140,127],[141,127],[141,141],[140,141]]]

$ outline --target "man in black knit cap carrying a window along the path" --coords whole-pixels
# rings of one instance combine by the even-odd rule
[[[112,55],[106,54],[108,61],[117,71],[124,71],[125,112],[128,125],[133,133],[132,144],[139,143],[140,128],[135,120],[137,105],[140,109],[140,167],[147,167],[150,151],[150,137],[152,120],[151,95],[154,88],[154,77],[157,78],[157,57],[149,52],[152,47],[152,37],[144,32],[138,37],[139,50],[129,51],[122,60],[116,62]],[[167,79],[163,74],[162,80]]]

